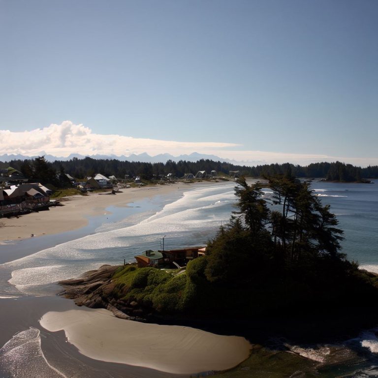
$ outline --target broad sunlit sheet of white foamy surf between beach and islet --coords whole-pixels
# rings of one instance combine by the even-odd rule
[[[147,218],[142,220],[134,217],[138,221],[136,224],[128,223],[123,228],[88,235],[7,262],[1,267],[9,272],[9,276],[11,274],[9,282],[18,290],[41,295],[42,287],[37,286],[76,277],[102,264],[114,264],[115,261],[121,263],[124,258],[133,260],[140,245],[157,249],[162,235],[181,240],[190,237],[188,243],[205,243],[208,236],[201,235],[207,230],[216,232],[221,222],[229,219],[235,201],[231,189],[233,184],[189,190],[156,214],[145,214]],[[200,239],[196,241],[193,235]],[[169,245],[169,239],[166,245]]]

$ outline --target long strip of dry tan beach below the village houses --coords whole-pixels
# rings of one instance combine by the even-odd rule
[[[187,185],[159,185],[122,189],[117,194],[88,193],[64,198],[64,206],[50,207],[48,211],[31,213],[18,218],[0,219],[0,244],[5,240],[20,240],[41,235],[75,230],[88,224],[89,216],[106,214],[108,206],[127,206],[143,198],[164,195],[188,189]]]

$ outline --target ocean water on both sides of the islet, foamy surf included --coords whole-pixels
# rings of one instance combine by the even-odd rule
[[[57,238],[60,242],[58,245],[54,244],[54,238],[47,238],[51,245],[49,248],[43,245],[43,241],[33,240],[30,254],[26,253],[28,255],[0,265],[0,345],[14,343],[11,339],[13,334],[9,337],[10,330],[6,324],[9,316],[4,315],[12,301],[25,301],[30,305],[32,300],[42,303],[44,298],[50,297],[54,298],[54,303],[57,300],[65,303],[64,299],[55,297],[60,290],[55,284],[59,280],[77,277],[102,264],[122,264],[124,260],[133,262],[136,254],[147,249],[161,249],[162,243],[167,250],[206,245],[236,209],[234,185],[233,182],[201,185],[186,190],[180,197],[157,196],[129,204],[128,208],[108,209],[113,213],[108,221],[94,218],[84,231],[68,233],[64,236],[65,241]],[[344,230],[345,236],[342,252],[347,253],[348,259],[357,261],[361,268],[378,273],[378,181],[373,184],[313,181],[312,189],[324,204],[331,205],[331,211],[337,215],[339,227]],[[270,195],[269,189],[264,191],[266,196]],[[38,250],[38,243],[46,248]],[[22,242],[0,245],[0,258],[2,251],[16,251],[18,245],[27,248]],[[11,331],[26,332],[24,336],[34,340],[38,332],[28,333],[27,329],[37,325],[38,319],[32,318],[35,317],[33,312],[28,316],[22,318],[19,329],[13,321]],[[349,350],[350,343],[360,348],[363,358],[330,364],[337,368],[320,369],[319,377],[378,377],[378,338],[375,330],[356,335],[355,339],[346,340],[338,347]],[[301,354],[298,350],[300,349],[293,351]],[[318,350],[317,347],[310,346],[305,352],[302,351],[302,355],[317,355]],[[72,369],[74,371],[74,364]],[[297,370],[298,366],[295,367],[295,371]],[[2,374],[7,377],[5,373]],[[27,376],[25,372],[25,377]],[[94,374],[93,377],[97,376]]]

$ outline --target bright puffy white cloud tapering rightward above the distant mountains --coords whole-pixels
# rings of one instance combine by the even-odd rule
[[[58,157],[71,153],[81,155],[130,155],[148,152],[150,155],[169,152],[183,154],[188,151],[206,151],[238,146],[234,143],[175,142],[154,139],[132,138],[122,135],[94,134],[83,125],[64,121],[32,131],[12,132],[0,130],[0,154],[37,155],[41,151]]]

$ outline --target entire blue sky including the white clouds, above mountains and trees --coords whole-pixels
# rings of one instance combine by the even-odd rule
[[[0,155],[378,165],[376,0],[0,0]]]

